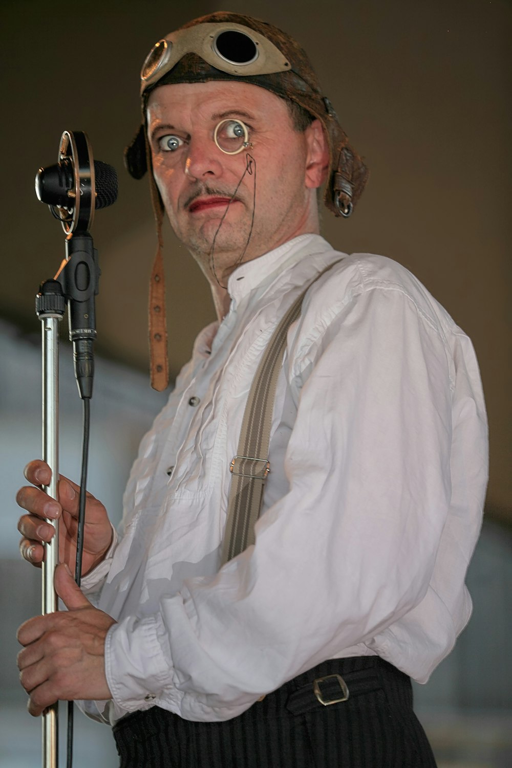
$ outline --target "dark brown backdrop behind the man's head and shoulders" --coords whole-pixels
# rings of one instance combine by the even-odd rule
[[[404,263],[470,334],[490,419],[488,513],[510,510],[510,39],[505,0],[235,2],[308,49],[371,179],[353,219],[324,216],[340,250]],[[292,8],[292,12],[288,10]],[[98,350],[146,365],[146,281],[154,247],[145,181],[122,167],[138,123],[138,71],[166,31],[208,2],[2,3],[0,314],[38,333],[38,283],[55,273],[63,234],[33,178],[57,159],[65,129],[87,131],[120,176],[97,214]],[[198,268],[166,235],[171,369],[213,317]]]

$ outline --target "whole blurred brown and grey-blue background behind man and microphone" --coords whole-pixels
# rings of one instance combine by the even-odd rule
[[[426,686],[417,713],[441,768],[512,765],[512,509],[510,505],[510,40],[506,0],[235,2],[304,45],[324,93],[371,169],[350,220],[324,214],[324,237],[347,253],[384,253],[407,266],[469,334],[490,422],[490,482],[468,585],[474,615]],[[114,207],[93,235],[101,263],[98,366],[89,488],[112,517],[141,434],[165,395],[148,384],[147,283],[155,229],[147,180],[128,177],[122,150],[140,121],[138,73],[151,46],[211,2],[8,2],[2,10],[0,283],[0,765],[40,760],[40,723],[25,713],[15,628],[40,612],[39,573],[18,555],[13,501],[22,467],[40,454],[38,284],[55,274],[64,236],[38,202],[38,167],[57,161],[62,131],[86,131],[96,159],[116,167]],[[214,319],[207,284],[165,230],[171,376]],[[508,299],[508,300],[507,300]],[[65,323],[62,323],[64,326]],[[65,329],[63,328],[63,336]],[[62,343],[61,471],[77,477],[81,405]],[[64,727],[62,730],[65,730]],[[78,715],[75,766],[115,766],[108,728]]]

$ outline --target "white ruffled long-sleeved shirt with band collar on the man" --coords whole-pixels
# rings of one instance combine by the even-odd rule
[[[220,567],[245,401],[288,332],[256,543]],[[114,617],[115,723],[158,705],[228,720],[322,660],[378,654],[419,682],[470,617],[487,422],[470,340],[404,267],[302,235],[230,276],[141,442],[122,536],[83,582]]]

